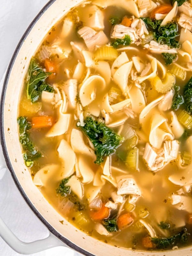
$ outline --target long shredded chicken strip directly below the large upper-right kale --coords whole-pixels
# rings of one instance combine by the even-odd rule
[[[145,44],[144,47],[153,53],[177,53],[177,50],[175,48],[170,48],[167,44],[158,44],[154,40],[151,40],[149,44]]]

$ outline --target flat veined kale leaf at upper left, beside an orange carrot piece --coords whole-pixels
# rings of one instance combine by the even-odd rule
[[[45,83],[45,79],[51,74],[51,72],[44,72],[34,58],[31,59],[28,68],[27,98],[33,103],[40,98],[43,91],[54,92],[53,87]]]

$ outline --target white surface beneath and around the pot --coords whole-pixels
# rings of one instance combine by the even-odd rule
[[[3,74],[12,54],[28,25],[48,0],[1,0],[0,11],[0,92]],[[1,148],[0,148],[1,150]],[[16,188],[9,171],[0,172],[0,216],[12,232],[24,242],[43,239],[49,232],[29,209]],[[19,256],[0,237],[1,256]],[[33,254],[34,256],[80,255],[71,249],[57,247]]]

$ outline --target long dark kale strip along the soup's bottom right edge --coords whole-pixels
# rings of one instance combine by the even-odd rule
[[[188,240],[187,228],[183,228],[180,233],[170,236],[168,238],[151,238],[152,243],[156,245],[156,248],[164,249],[177,245],[178,243],[186,243]]]

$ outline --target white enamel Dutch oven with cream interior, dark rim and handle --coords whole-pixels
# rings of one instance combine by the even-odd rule
[[[104,1],[104,0],[103,0]],[[128,2],[129,0],[127,0]],[[15,237],[0,219],[0,236],[15,251],[22,254],[40,252],[55,246],[69,246],[84,255],[110,256],[187,256],[192,254],[190,247],[166,252],[139,252],[117,248],[87,236],[69,224],[44,199],[38,188],[33,184],[21,154],[18,139],[17,109],[21,93],[21,84],[28,69],[31,57],[42,43],[44,36],[52,26],[65,15],[71,7],[82,0],[51,0],[31,23],[12,57],[1,99],[1,144],[3,153],[12,177],[20,193],[32,211],[49,229],[48,238],[24,243]],[[1,166],[3,168],[3,166]],[[60,220],[63,220],[61,224]]]

